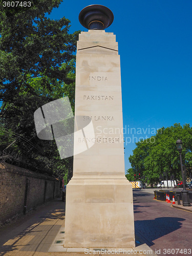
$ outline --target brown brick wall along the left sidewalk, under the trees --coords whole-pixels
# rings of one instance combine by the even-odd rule
[[[61,181],[8,163],[0,164],[0,226],[60,197]]]

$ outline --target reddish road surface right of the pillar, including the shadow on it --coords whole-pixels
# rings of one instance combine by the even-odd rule
[[[192,255],[192,212],[154,200],[147,190],[133,190],[136,234],[157,255]]]

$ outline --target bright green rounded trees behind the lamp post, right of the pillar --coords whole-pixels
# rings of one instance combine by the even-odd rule
[[[130,156],[132,168],[127,173],[138,173],[148,178],[153,184],[159,182],[160,175],[167,172],[168,179],[171,175],[181,180],[181,165],[176,141],[183,141],[182,159],[187,177],[192,167],[192,127],[189,124],[175,123],[170,127],[159,129],[153,140],[146,139],[136,143],[137,147]]]

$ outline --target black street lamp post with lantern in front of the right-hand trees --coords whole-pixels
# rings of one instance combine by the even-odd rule
[[[184,179],[184,172],[183,172],[183,161],[182,161],[182,144],[183,142],[181,140],[177,140],[176,145],[177,145],[177,150],[179,151],[179,156],[180,156],[180,162],[181,162],[181,174],[182,174],[182,180],[183,180],[183,190],[181,191],[182,194],[182,201],[183,201],[183,206],[191,206],[190,201],[189,201],[189,194],[188,191],[186,190],[186,184],[185,184],[185,179]]]

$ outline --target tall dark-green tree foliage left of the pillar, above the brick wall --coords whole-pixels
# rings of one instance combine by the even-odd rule
[[[0,11],[0,149],[16,152],[13,164],[49,174],[65,173],[54,141],[37,138],[33,114],[40,106],[68,96],[74,109],[75,56],[79,31],[70,21],[47,17],[61,0],[35,0],[31,7]],[[5,155],[5,154],[4,154]],[[15,156],[15,155],[14,155]],[[21,160],[20,160],[21,159]]]

